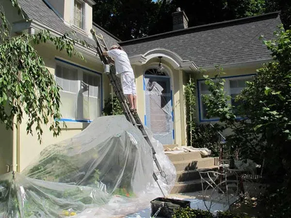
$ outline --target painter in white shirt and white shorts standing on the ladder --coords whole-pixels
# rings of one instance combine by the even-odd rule
[[[103,51],[102,54],[113,58],[116,75],[120,74],[122,90],[130,104],[130,112],[136,112],[136,86],[127,53],[120,46],[113,45],[109,51]]]

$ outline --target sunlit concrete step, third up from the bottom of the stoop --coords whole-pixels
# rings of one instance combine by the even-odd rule
[[[201,168],[209,168],[214,165],[214,157],[205,157],[193,161],[172,161],[176,171],[191,171]]]

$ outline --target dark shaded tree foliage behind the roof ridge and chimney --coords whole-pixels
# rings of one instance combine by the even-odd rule
[[[281,10],[285,29],[291,25],[291,1],[284,0],[95,0],[93,20],[121,40],[172,31],[178,7],[189,27]]]

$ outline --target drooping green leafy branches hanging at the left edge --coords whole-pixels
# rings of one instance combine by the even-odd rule
[[[10,0],[12,5],[22,13],[17,0]],[[32,134],[35,127],[41,143],[42,125],[50,125],[53,136],[61,132],[60,86],[50,74],[35,46],[51,42],[59,51],[67,55],[82,55],[74,45],[77,41],[69,39],[69,33],[56,37],[49,31],[39,31],[35,35],[22,33],[12,36],[3,8],[0,8],[0,122],[7,129],[21,124],[26,114],[27,134]],[[86,46],[82,42],[83,46]],[[14,123],[16,122],[16,123]]]

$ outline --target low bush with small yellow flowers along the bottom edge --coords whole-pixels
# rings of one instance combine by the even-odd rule
[[[214,216],[209,211],[195,210],[190,207],[174,210],[172,218],[250,218],[246,214],[235,214],[230,211],[218,212]]]

